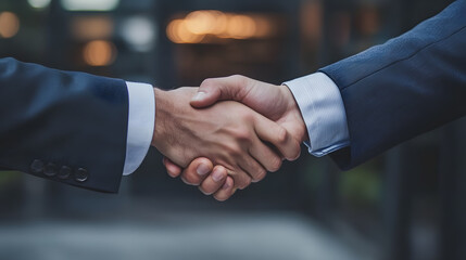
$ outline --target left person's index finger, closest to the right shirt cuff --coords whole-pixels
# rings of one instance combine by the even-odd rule
[[[274,145],[288,160],[294,160],[300,156],[300,143],[285,128],[263,116],[255,118],[254,129],[261,140]]]

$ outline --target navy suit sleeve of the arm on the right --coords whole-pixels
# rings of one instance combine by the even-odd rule
[[[342,169],[466,115],[466,1],[387,43],[320,69],[340,89],[350,144]]]

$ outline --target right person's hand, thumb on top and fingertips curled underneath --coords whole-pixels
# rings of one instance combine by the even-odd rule
[[[307,139],[305,123],[302,119],[300,109],[291,91],[286,86],[273,86],[243,76],[206,79],[199,88],[197,95],[192,99],[191,105],[201,108],[210,106],[221,100],[241,102],[255,112],[275,120],[287,129],[298,143]],[[288,159],[295,159],[297,157],[299,157],[299,154]],[[184,180],[190,180],[191,184],[199,185],[207,174],[197,174],[197,168],[193,166],[201,166],[204,162],[206,164],[205,158],[194,160],[190,167],[182,171],[182,174],[181,168],[172,161],[166,160],[165,166],[172,177],[181,174]],[[215,191],[212,193],[215,193]],[[225,195],[225,193],[222,195]],[[219,200],[228,198],[225,196],[217,196],[216,194],[214,194],[214,197]]]

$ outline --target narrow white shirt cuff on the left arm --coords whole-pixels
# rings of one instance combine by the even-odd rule
[[[123,176],[135,172],[144,159],[153,135],[155,99],[152,86],[126,82],[129,96],[128,136]]]

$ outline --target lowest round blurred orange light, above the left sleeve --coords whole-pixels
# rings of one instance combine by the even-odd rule
[[[83,54],[90,66],[108,66],[116,58],[116,48],[110,41],[96,40],[85,46]]]

